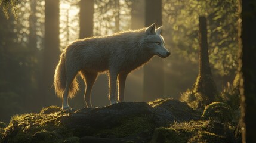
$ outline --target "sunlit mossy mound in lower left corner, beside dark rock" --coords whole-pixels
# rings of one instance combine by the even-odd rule
[[[55,107],[55,109],[60,108]],[[63,142],[73,136],[58,122],[58,117],[67,114],[65,111],[48,114],[42,114],[42,111],[39,114],[18,114],[11,117],[10,124],[4,128],[5,139],[8,138],[8,142]]]

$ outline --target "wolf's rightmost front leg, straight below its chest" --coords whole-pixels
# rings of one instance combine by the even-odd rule
[[[118,92],[118,100],[120,102],[125,101],[125,80],[127,78],[128,73],[119,73],[118,74],[118,87],[119,87],[119,92]]]

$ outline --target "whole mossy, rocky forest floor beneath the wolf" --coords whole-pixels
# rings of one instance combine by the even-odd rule
[[[241,142],[238,120],[218,120],[221,108],[211,110],[201,117],[205,111],[172,99],[80,110],[51,106],[0,122],[0,142]]]

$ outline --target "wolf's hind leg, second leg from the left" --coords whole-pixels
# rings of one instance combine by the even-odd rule
[[[86,84],[84,100],[87,107],[92,107],[91,104],[91,90],[94,85],[95,80],[97,79],[98,73],[87,72],[85,70],[81,70],[81,76],[84,79]]]

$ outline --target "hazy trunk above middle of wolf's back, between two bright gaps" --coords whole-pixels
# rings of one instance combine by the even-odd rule
[[[87,38],[93,36],[93,14],[94,1],[80,1],[80,34],[79,38]]]

